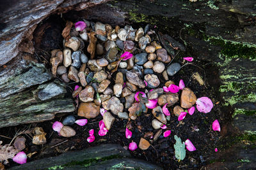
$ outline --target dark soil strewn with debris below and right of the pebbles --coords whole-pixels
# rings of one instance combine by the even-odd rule
[[[145,24],[141,24],[140,26],[144,27]],[[63,25],[61,25],[61,27],[63,27]],[[134,29],[138,29],[138,25],[134,25]],[[50,37],[51,36],[49,36],[49,38]],[[175,39],[182,43],[179,38]],[[58,45],[60,45],[60,43]],[[42,48],[42,46],[40,48]],[[38,53],[40,52],[42,53],[42,50],[38,51]],[[38,56],[40,57],[40,55]],[[138,148],[134,152],[131,152],[134,157],[147,160],[148,162],[157,164],[164,169],[200,168],[205,164],[209,164],[209,160],[214,157],[214,148],[218,148],[218,145],[220,145],[220,132],[212,131],[211,129],[211,125],[214,120],[218,119],[220,124],[223,123],[223,120],[221,120],[221,111],[219,106],[220,104],[216,104],[220,101],[218,97],[218,69],[215,66],[212,66],[210,63],[202,60],[197,60],[196,56],[188,50],[186,53],[179,52],[173,62],[182,63],[182,57],[194,57],[193,63],[182,67],[182,69],[180,69],[177,74],[170,77],[170,80],[174,81],[176,84],[179,84],[180,79],[184,80],[186,87],[189,87],[191,90],[193,90],[193,92],[195,92],[196,94],[196,97],[210,97],[212,99],[212,102],[214,103],[214,108],[210,113],[206,114],[195,111],[192,116],[188,114],[186,118],[184,118],[184,120],[180,122],[177,120],[177,117],[172,114],[170,121],[168,121],[168,124],[166,125],[168,127],[168,129],[166,130],[172,131],[172,134],[168,138],[164,138],[162,135],[157,141],[152,143],[152,146],[150,146],[148,150],[143,151]],[[203,80],[205,81],[205,86],[199,85],[198,81],[192,78],[193,73],[196,72],[198,72],[202,76]],[[115,78],[115,74],[113,78]],[[163,80],[160,74],[159,80],[161,81],[161,85],[159,87],[163,87],[165,80]],[[68,84],[68,86],[72,89],[74,89],[74,85],[75,83]],[[70,92],[71,94],[72,90],[70,88],[67,89],[68,92]],[[176,105],[179,105],[179,103],[175,104],[175,106]],[[170,108],[170,110],[172,109],[173,106]],[[25,152],[36,152],[35,155],[28,159],[28,161],[30,162],[36,159],[42,159],[44,157],[54,157],[70,150],[81,150],[84,148],[89,148],[91,146],[97,146],[102,143],[118,143],[122,146],[129,146],[129,143],[131,143],[131,141],[135,141],[138,144],[140,142],[140,138],[143,137],[146,132],[153,132],[155,134],[158,131],[152,128],[151,122],[154,116],[151,114],[151,112],[152,110],[149,109],[146,114],[142,114],[136,120],[131,120],[133,127],[131,139],[125,138],[125,125],[127,124],[128,120],[121,120],[115,115],[114,116],[116,117],[116,120],[113,124],[113,127],[111,127],[111,130],[106,136],[102,137],[97,134],[99,131],[99,121],[102,120],[101,115],[99,115],[97,118],[88,120],[88,124],[84,125],[84,127],[81,127],[77,124],[71,125],[71,127],[73,127],[77,133],[76,136],[72,138],[63,138],[61,136],[58,136],[57,132],[52,131],[52,124],[55,121],[61,122],[65,115],[57,115],[58,117],[54,118],[54,120],[37,124],[5,127],[0,129],[0,134],[2,136],[13,138],[17,131],[22,131],[23,129],[33,129],[33,127],[42,127],[44,131],[47,132],[47,143],[45,145],[33,145],[30,134],[21,134],[21,136],[24,136],[27,139],[27,147],[25,149]],[[76,113],[72,113],[72,115],[74,115],[77,119],[82,118],[77,117]],[[93,141],[93,143],[88,143],[86,141],[89,136],[88,131],[90,129],[95,129],[95,141]],[[163,130],[163,132],[164,131],[165,130]],[[175,159],[175,153],[173,148],[173,144],[175,143],[174,135],[180,137],[182,141],[190,139],[196,147],[195,152],[186,151],[186,158],[180,162]],[[3,144],[8,144],[11,142],[12,139],[0,137],[0,140],[3,141]],[[61,145],[58,145],[61,142],[63,143]],[[18,164],[10,160],[10,166],[17,165]]]

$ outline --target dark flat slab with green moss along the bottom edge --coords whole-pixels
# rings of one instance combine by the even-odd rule
[[[35,160],[11,169],[161,169],[154,164],[130,157],[129,151],[122,146],[104,144]]]

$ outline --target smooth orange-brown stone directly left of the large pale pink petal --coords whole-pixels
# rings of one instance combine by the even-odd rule
[[[180,96],[180,106],[182,108],[191,108],[196,103],[196,96],[194,92],[189,89],[188,87],[185,87],[182,89],[181,96]]]

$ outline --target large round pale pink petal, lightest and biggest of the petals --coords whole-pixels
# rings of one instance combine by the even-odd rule
[[[209,113],[212,107],[213,103],[208,97],[200,97],[196,100],[196,109],[202,113]]]

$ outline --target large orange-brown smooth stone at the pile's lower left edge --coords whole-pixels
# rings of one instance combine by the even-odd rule
[[[95,103],[81,103],[79,104],[77,115],[85,118],[95,118],[100,113],[100,107]]]

